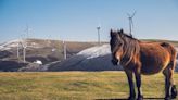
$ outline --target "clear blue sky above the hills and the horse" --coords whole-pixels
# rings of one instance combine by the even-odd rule
[[[110,39],[110,29],[129,33],[127,13],[134,13],[134,36],[178,40],[177,0],[0,0],[0,42],[20,38],[26,25],[30,38],[97,41]]]

